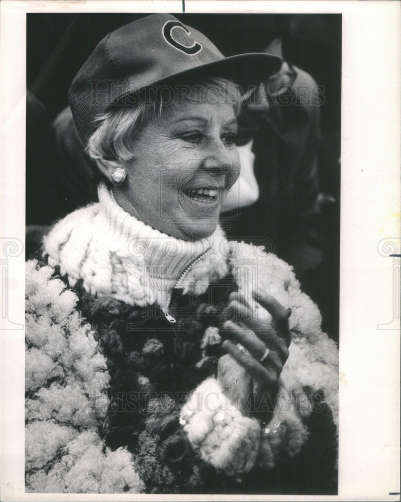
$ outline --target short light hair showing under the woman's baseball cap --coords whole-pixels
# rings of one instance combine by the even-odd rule
[[[212,102],[224,99],[238,116],[241,90],[237,84],[220,77],[208,77],[185,85],[145,88],[114,105],[98,117],[97,129],[89,138],[86,152],[97,164],[103,160],[129,161],[133,157],[133,138],[166,107],[182,102]],[[133,100],[135,104],[127,104]]]

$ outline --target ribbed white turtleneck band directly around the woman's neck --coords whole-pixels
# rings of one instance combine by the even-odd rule
[[[128,243],[128,252],[143,258],[148,275],[153,279],[175,283],[182,272],[211,247],[215,234],[189,241],[146,225],[119,206],[104,183],[99,184],[98,196],[106,215],[108,235]],[[215,233],[221,235],[222,231],[218,228]]]

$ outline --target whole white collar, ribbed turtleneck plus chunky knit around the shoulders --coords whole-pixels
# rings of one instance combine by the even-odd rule
[[[49,265],[60,266],[71,286],[82,280],[92,294],[164,308],[193,262],[179,284],[184,291],[201,293],[210,278],[227,273],[220,227],[197,241],[177,239],[127,213],[104,183],[98,195],[98,203],[66,216],[44,240]]]

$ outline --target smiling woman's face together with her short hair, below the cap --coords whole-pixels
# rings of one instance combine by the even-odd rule
[[[207,237],[239,176],[240,98],[221,78],[164,86],[156,95],[147,89],[134,112],[116,105],[98,119],[87,151],[106,180],[123,169],[125,183],[113,194],[129,214],[174,237]]]

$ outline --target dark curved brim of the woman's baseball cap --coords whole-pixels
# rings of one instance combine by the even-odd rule
[[[270,75],[277,73],[282,64],[278,56],[265,53],[237,54],[218,61],[199,65],[188,70],[172,73],[161,80],[156,80],[147,86],[132,89],[127,94],[138,92],[144,87],[159,84],[180,84],[186,77],[221,77],[232,80],[246,92],[251,86],[257,86]],[[127,95],[126,94],[126,95]],[[124,97],[124,96],[123,96]]]

